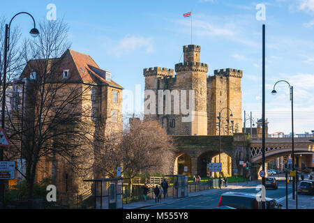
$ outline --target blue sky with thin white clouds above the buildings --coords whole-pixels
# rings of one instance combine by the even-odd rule
[[[70,27],[71,49],[89,54],[100,68],[112,72],[124,91],[134,95],[144,90],[143,68],[174,69],[174,64],[182,62],[182,47],[191,43],[190,18],[183,14],[192,11],[193,44],[201,46],[200,60],[209,65],[208,75],[222,68],[243,70],[242,110],[252,112],[255,121],[262,117],[265,24],[269,133],[291,132],[289,86],[280,83],[277,95],[271,95],[281,79],[294,87],[294,132],[314,130],[314,0],[10,0],[1,2],[0,16],[9,20],[26,11],[36,21],[46,20],[50,3],[56,6],[56,19]],[[265,17],[258,4],[265,6]],[[32,24],[20,16],[12,26],[27,33]],[[134,101],[133,109],[124,105],[124,111],[137,112],[137,107]]]

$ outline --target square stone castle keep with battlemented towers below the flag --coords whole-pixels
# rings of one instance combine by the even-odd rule
[[[215,70],[214,76],[207,76],[207,63],[200,63],[200,46],[183,47],[184,63],[177,63],[174,70],[167,68],[144,69],[145,90],[151,90],[156,97],[156,113],[145,107],[146,117],[156,118],[172,135],[217,135],[219,112],[221,112],[220,133],[229,135],[242,132],[241,123],[241,78],[242,70],[231,68]],[[185,91],[183,91],[185,90]],[[182,121],[186,114],[175,112],[194,92],[192,121]],[[160,92],[161,97],[160,97]],[[180,95],[179,103],[174,100]],[[183,97],[184,96],[184,97]],[[171,105],[171,107],[170,107]],[[158,108],[163,112],[158,111]],[[170,108],[169,108],[170,107]],[[181,108],[181,107],[180,107]],[[167,110],[168,109],[168,110]],[[171,110],[171,112],[166,112]],[[150,110],[151,111],[151,110]]]

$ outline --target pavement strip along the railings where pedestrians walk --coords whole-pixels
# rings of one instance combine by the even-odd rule
[[[257,180],[252,180],[249,182],[241,182],[241,183],[228,183],[227,187],[222,187],[221,189],[211,189],[211,190],[202,190],[200,192],[190,192],[188,193],[188,197],[184,197],[184,198],[174,199],[173,197],[166,197],[165,199],[163,199],[162,197],[162,199],[159,200],[159,203],[156,203],[155,199],[150,199],[150,200],[147,200],[146,202],[137,201],[133,203],[126,203],[124,204],[124,209],[140,209],[140,208],[149,208],[152,206],[161,206],[165,204],[174,203],[177,201],[182,201],[185,199],[190,199],[192,197],[211,195],[211,194],[216,194],[223,191],[227,192],[228,190],[234,190],[234,189],[244,189],[246,188],[246,186],[258,185],[258,184],[260,184],[260,181],[257,181]]]

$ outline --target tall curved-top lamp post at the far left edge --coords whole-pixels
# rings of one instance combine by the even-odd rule
[[[10,26],[15,17],[20,14],[27,14],[31,17],[33,20],[33,29],[29,32],[31,36],[37,37],[39,35],[38,29],[36,29],[36,22],[33,19],[33,16],[29,13],[22,12],[15,14],[12,19],[10,20],[9,24],[6,24],[6,31],[5,31],[5,37],[4,37],[4,55],[3,55],[3,77],[2,77],[2,113],[1,113],[1,128],[4,130],[4,121],[6,116],[6,69],[8,66],[7,62],[7,56],[8,56],[8,50],[10,47]],[[3,147],[0,149],[0,161],[3,161]],[[4,182],[3,180],[0,180],[0,208],[3,208],[3,198],[4,198]]]

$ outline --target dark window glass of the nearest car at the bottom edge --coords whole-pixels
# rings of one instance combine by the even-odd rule
[[[251,197],[223,196],[220,205],[239,209],[254,209],[255,199]]]

